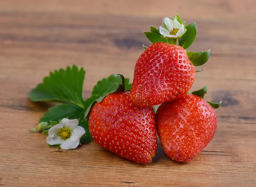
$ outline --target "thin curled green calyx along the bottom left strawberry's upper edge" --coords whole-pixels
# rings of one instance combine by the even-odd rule
[[[93,106],[96,104],[96,103],[100,103],[102,102],[102,100],[109,94],[115,94],[115,93],[118,93],[118,92],[123,92],[125,91],[125,77],[121,74],[117,74],[121,80],[122,80],[122,83],[118,83],[116,82],[116,89],[112,90],[111,92],[108,92],[106,93],[105,95],[102,95],[100,98],[97,98],[95,101],[92,102],[92,104],[90,104],[90,106],[87,108],[87,110],[85,111],[84,113],[84,119],[83,121],[85,120],[88,120],[89,119],[89,116],[90,116],[90,111],[92,110]],[[128,89],[126,89],[128,90]]]

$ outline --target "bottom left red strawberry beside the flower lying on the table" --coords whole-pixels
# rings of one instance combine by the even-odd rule
[[[133,104],[129,92],[110,94],[96,103],[89,129],[97,144],[131,161],[149,164],[157,153],[154,110]]]

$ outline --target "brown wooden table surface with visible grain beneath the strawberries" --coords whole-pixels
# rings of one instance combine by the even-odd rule
[[[256,186],[255,0],[1,0],[0,185],[6,186]],[[84,98],[99,79],[133,78],[143,31],[179,13],[196,21],[192,51],[212,49],[192,90],[208,87],[208,101],[223,101],[218,131],[194,161],[178,164],[159,145],[140,165],[96,143],[73,151],[49,148],[30,133],[49,104],[27,93],[50,70],[86,69]],[[200,69],[200,68],[199,68]]]

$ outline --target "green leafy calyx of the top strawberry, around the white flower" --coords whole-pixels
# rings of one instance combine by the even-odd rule
[[[183,47],[184,49],[188,49],[195,41],[196,35],[197,35],[197,26],[195,22],[190,23],[189,25],[185,25],[185,22],[182,22],[180,16],[177,14],[175,18],[170,17],[171,20],[177,20],[178,23],[184,26],[184,32],[181,36],[177,36],[176,38],[170,38],[168,36],[164,36],[160,33],[159,28],[155,28],[153,26],[150,26],[150,32],[144,32],[145,37],[151,42],[151,43],[157,43],[157,42],[163,42],[163,43],[169,43],[174,45],[179,45]],[[162,27],[166,30],[168,30],[168,26],[164,22],[164,19],[162,21]],[[172,30],[168,30],[170,35],[176,35],[178,32],[178,28],[173,28]],[[144,49],[147,49],[143,45]],[[194,66],[201,66],[204,63],[207,62],[210,55],[210,49],[208,51],[201,51],[201,52],[186,52],[188,55],[189,60],[193,63]]]

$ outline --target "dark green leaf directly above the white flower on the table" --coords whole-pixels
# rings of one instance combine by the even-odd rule
[[[49,111],[44,113],[44,117],[41,118],[40,121],[46,121],[50,123],[50,121],[59,121],[63,118],[79,119],[79,126],[84,127],[85,135],[87,137],[91,137],[88,123],[86,121],[82,122],[82,119],[84,118],[84,112],[85,109],[72,104],[59,104],[49,108]]]

